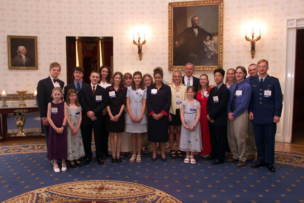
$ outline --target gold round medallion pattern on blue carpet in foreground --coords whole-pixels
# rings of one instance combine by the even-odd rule
[[[63,183],[40,188],[10,198],[4,202],[175,203],[181,201],[161,190],[137,183],[111,180],[91,180]]]

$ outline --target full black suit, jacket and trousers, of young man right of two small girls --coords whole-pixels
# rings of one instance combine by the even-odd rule
[[[101,100],[96,101],[96,96],[101,96]],[[83,108],[82,112],[82,139],[85,148],[85,158],[91,159],[92,157],[92,128],[94,130],[94,140],[96,148],[96,158],[101,158],[103,155],[102,150],[102,110],[105,108],[106,103],[106,90],[100,85],[96,85],[95,94],[92,92],[91,85],[83,86],[81,91],[81,106]],[[96,120],[92,121],[88,116],[87,112],[93,111]]]

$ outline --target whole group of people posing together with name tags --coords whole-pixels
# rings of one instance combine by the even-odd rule
[[[192,63],[185,64],[184,76],[173,71],[168,85],[163,82],[161,67],[155,68],[152,77],[138,71],[133,76],[112,74],[108,66],[101,66],[91,72],[90,84],[82,81],[83,68],[75,67],[74,82],[64,87],[58,79],[60,64],[53,62],[50,77],[37,86],[48,158],[55,172],[60,172],[59,159],[61,171],[66,171],[66,160],[71,167],[89,164],[94,131],[98,164],[106,157],[120,163],[124,154],[129,154],[130,162],[141,162],[142,147],[148,145],[153,150],[152,161],[157,160],[158,149],[166,161],[169,140],[170,157],[182,158],[185,153],[183,162],[192,164],[196,163],[194,152],[212,160],[211,164],[223,163],[227,153],[231,155],[227,161],[244,166],[246,160],[255,158],[256,144],[257,161],[251,167],[267,166],[275,172],[274,142],[282,92],[278,79],[267,74],[268,69],[268,61],[261,59],[249,65],[250,77],[246,78],[245,67],[237,66],[227,71],[226,84],[225,71],[216,69],[216,86],[210,86],[206,74],[193,76]]]

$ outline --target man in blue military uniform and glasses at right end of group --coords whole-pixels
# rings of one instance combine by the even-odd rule
[[[258,77],[250,80],[252,96],[249,104],[249,119],[253,123],[257,148],[257,161],[251,167],[266,166],[270,172],[276,172],[273,165],[275,136],[283,108],[282,90],[279,79],[269,76],[268,69],[268,61],[259,60],[257,62]]]

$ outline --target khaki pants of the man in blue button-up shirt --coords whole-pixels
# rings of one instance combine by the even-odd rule
[[[234,121],[228,119],[227,138],[234,159],[246,161],[246,133],[248,125],[248,111],[246,110]]]

